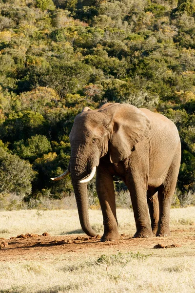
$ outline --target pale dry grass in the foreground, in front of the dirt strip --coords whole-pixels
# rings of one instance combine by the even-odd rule
[[[76,261],[67,256],[64,260],[64,255],[39,262],[3,262],[0,293],[195,292],[194,257],[151,255],[130,258],[125,264],[122,260],[126,254],[121,253],[113,264],[85,256]]]

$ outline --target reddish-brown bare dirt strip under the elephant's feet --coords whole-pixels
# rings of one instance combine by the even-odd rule
[[[195,227],[172,230],[171,237],[132,238],[132,235],[121,234],[118,243],[100,242],[100,236],[88,237],[84,234],[50,236],[25,234],[10,239],[0,238],[0,261],[46,259],[56,254],[93,254],[112,253],[113,251],[141,251],[156,253],[177,249],[176,253],[195,255]],[[188,249],[186,250],[186,248]],[[162,248],[162,249],[161,249]],[[187,251],[187,252],[186,252]]]

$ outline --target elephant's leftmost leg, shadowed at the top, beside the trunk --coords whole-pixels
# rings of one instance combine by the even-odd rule
[[[118,233],[113,176],[97,168],[96,189],[103,214],[104,233],[101,242],[120,239]]]

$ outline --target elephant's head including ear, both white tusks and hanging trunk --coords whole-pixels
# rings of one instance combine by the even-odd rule
[[[98,110],[85,107],[76,116],[69,136],[71,158],[68,171],[71,173],[80,224],[86,234],[96,235],[89,223],[87,181],[94,176],[99,159],[109,152],[111,163],[124,160],[134,146],[148,135],[149,130],[147,116],[128,104],[108,103]],[[52,179],[59,180],[66,173]]]

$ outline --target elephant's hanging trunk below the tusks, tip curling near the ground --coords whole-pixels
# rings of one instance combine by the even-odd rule
[[[71,172],[72,184],[77,201],[78,216],[82,230],[89,236],[96,236],[96,232],[91,228],[88,213],[87,183],[80,183],[78,176]]]

